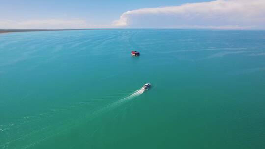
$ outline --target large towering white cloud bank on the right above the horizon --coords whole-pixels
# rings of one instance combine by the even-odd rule
[[[265,0],[216,0],[127,11],[117,27],[265,28]]]

